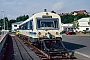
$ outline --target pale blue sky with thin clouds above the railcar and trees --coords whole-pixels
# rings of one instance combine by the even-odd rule
[[[32,16],[44,9],[57,14],[78,10],[90,12],[90,0],[0,0],[0,11],[4,11],[8,19],[16,19],[21,15]],[[3,18],[2,12],[0,18]]]

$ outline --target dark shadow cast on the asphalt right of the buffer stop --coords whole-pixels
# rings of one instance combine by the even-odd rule
[[[63,41],[63,43],[64,43],[65,47],[70,50],[76,50],[76,49],[86,47],[85,45],[80,45],[80,44],[75,44],[75,43],[70,43],[70,42],[65,42],[65,41]]]

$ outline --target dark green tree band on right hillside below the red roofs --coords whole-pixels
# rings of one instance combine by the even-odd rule
[[[74,21],[77,21],[78,19],[85,18],[85,17],[90,17],[90,15],[86,14],[77,14],[77,15],[71,15],[71,14],[66,14],[61,16],[61,21],[62,23],[72,23]]]

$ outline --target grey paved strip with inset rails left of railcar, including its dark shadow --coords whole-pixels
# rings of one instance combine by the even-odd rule
[[[11,35],[8,37],[8,47],[4,60],[40,60],[22,41]]]

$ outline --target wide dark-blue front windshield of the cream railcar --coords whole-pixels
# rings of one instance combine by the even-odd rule
[[[57,29],[58,18],[50,18],[50,19],[37,19],[37,28],[38,29]]]

